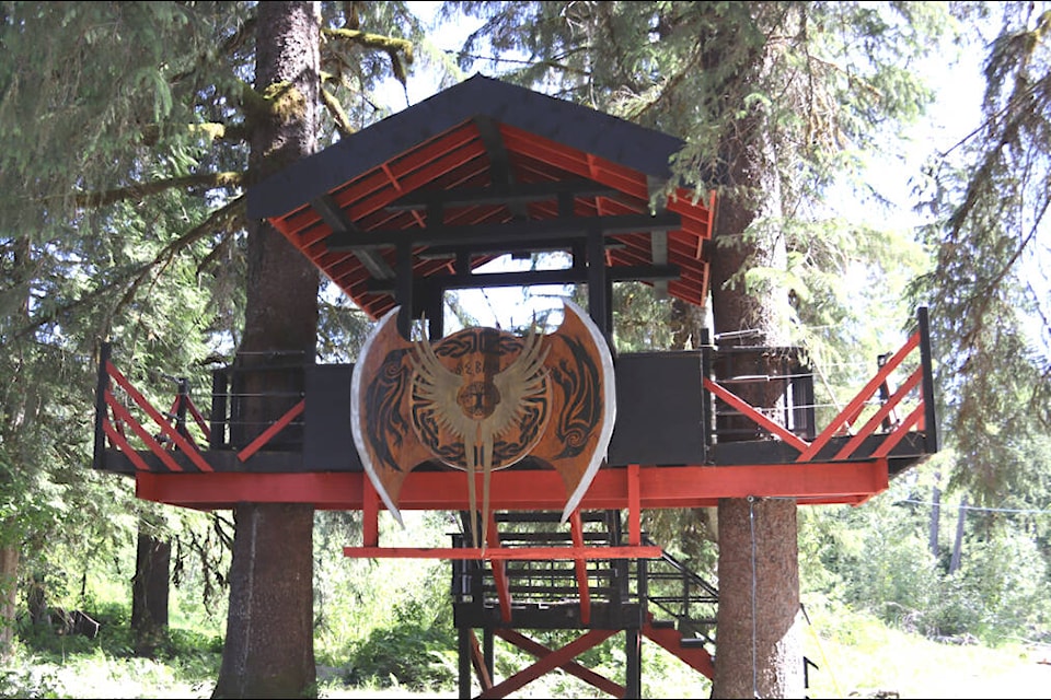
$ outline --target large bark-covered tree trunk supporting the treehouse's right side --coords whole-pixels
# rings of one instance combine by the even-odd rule
[[[758,129],[742,129],[760,135]],[[727,148],[731,190],[718,205],[712,256],[712,315],[716,336],[753,330],[748,345],[786,345],[786,322],[778,292],[748,287],[738,273],[755,266],[784,267],[784,240],[761,228],[742,234],[761,215],[776,214],[776,172],[761,144]],[[754,342],[751,339],[754,338]],[[757,371],[762,374],[761,369]],[[772,383],[769,383],[772,384]],[[748,385],[747,385],[748,386]],[[775,387],[755,384],[740,390],[755,407],[776,400]],[[804,697],[799,615],[799,563],[795,500],[723,499],[718,506],[719,609],[716,627],[713,698]]]

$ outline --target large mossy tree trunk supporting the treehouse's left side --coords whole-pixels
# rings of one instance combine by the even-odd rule
[[[253,129],[255,178],[316,150],[320,28],[316,2],[258,5],[256,90],[280,107]],[[319,272],[278,231],[255,221],[247,275],[238,364],[251,440],[298,401],[316,345]],[[212,697],[316,697],[313,515],[308,504],[241,503],[234,510],[227,638]]]

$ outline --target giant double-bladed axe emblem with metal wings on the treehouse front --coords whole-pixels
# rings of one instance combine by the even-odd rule
[[[605,458],[616,401],[605,339],[564,303],[556,331],[543,335],[534,324],[524,337],[465,328],[409,341],[397,331],[399,308],[380,319],[354,368],[351,427],[369,479],[399,523],[402,485],[434,462],[467,472],[472,513],[474,475],[482,475],[483,524],[489,475],[526,457],[562,476],[563,521],[577,508]]]

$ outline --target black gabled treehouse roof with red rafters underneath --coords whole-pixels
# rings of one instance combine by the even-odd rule
[[[268,219],[373,318],[395,305],[396,270],[407,269],[399,246],[412,249],[417,283],[482,287],[470,270],[494,257],[574,249],[596,230],[612,279],[667,283],[703,304],[709,203],[680,190],[666,211],[650,207],[682,145],[475,75],[252,187],[249,215]]]

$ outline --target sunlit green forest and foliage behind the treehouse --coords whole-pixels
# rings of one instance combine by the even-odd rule
[[[598,11],[607,4],[616,9]],[[327,113],[322,140],[403,107],[396,96],[417,101],[475,70],[662,124],[657,113],[681,105],[675,90],[695,75],[681,63],[682,47],[648,40],[632,24],[646,19],[632,10],[639,4],[689,16],[680,3],[323,3],[333,49],[325,69],[340,108]],[[730,4],[784,11],[776,2]],[[789,266],[761,273],[792,285],[795,340],[816,359],[830,406],[898,346],[915,306],[929,305],[945,436],[942,453],[863,506],[800,509],[800,579],[817,634],[809,655],[825,660],[815,684],[840,697],[888,685],[880,673],[893,677],[892,662],[832,664],[827,652],[869,645],[865,653],[875,656],[874,637],[877,645],[904,646],[899,633],[943,645],[980,642],[984,658],[1007,649],[1035,663],[1051,643],[1051,299],[1041,262],[1049,246],[1051,14],[1044,3],[802,4],[829,31],[830,57],[842,58],[835,51],[851,46],[846,37],[867,36],[868,44],[854,44],[873,51],[861,63],[898,70],[869,84],[882,104],[854,113],[880,112],[874,128],[841,125],[825,133],[843,141],[816,141],[823,160],[785,155],[804,170],[821,168],[820,186],[776,222],[792,236]],[[239,128],[252,109],[242,83],[251,72],[253,10],[0,3],[0,545],[12,621],[4,628],[4,696],[119,692],[91,689],[91,669],[100,667],[129,684],[130,695],[120,697],[155,697],[173,684],[207,695],[217,673],[229,514],[142,502],[129,482],[92,471],[93,392],[101,339],[114,339],[122,362],[164,401],[171,377],[207,376],[229,361],[243,332],[240,174],[247,156]],[[443,44],[430,18],[477,18],[470,25],[476,31],[461,33],[460,46]],[[566,36],[593,38],[601,22],[623,23],[616,36],[642,37],[607,48],[620,51],[614,63],[636,67],[649,82],[616,82],[598,62],[581,79],[574,63],[580,47]],[[891,34],[897,44],[877,40]],[[891,45],[896,54],[876,52]],[[933,100],[959,81],[965,69],[955,66],[968,66],[954,57],[977,60],[983,71],[973,122],[934,140]],[[392,95],[392,80],[402,95]],[[824,116],[835,117],[831,108]],[[696,143],[704,133],[688,136]],[[883,166],[873,170],[877,153]],[[900,165],[888,170],[894,158]],[[899,218],[902,202],[919,218]],[[622,349],[671,345],[665,302],[640,287],[624,287],[617,299]],[[338,296],[322,294],[320,303],[319,361],[353,360],[367,319]],[[449,313],[470,324],[480,312],[476,302],[452,299]],[[680,515],[650,514],[647,529],[711,572],[712,533],[703,518]],[[452,522],[431,514],[411,526],[386,523],[383,537],[446,546]],[[314,639],[326,687],[451,689],[448,565],[345,560],[342,547],[360,538],[359,527],[354,513],[315,516]],[[140,536],[172,546],[172,618],[147,654],[130,625]],[[42,598],[45,607],[90,612],[102,622],[100,634],[89,640],[34,623],[31,609]],[[617,653],[604,650],[594,663],[615,676]],[[681,697],[689,688],[701,697],[705,684],[683,685],[673,663],[658,653],[647,660],[646,677],[673,678],[647,695]],[[868,675],[836,679],[836,667],[847,666]],[[541,695],[581,692],[571,679],[558,682]]]

